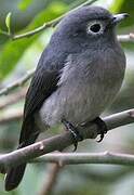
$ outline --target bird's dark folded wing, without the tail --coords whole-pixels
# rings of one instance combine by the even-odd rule
[[[37,69],[26,94],[24,119],[31,116],[57,88],[57,70]]]

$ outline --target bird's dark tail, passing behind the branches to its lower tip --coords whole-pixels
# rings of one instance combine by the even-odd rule
[[[38,134],[39,131],[37,130],[35,122],[32,121],[31,123],[31,121],[25,121],[22,127],[19,140],[21,145],[18,146],[18,148],[32,144],[36,141]],[[25,168],[26,164],[22,164],[17,167],[9,168],[6,170],[4,184],[5,191],[12,191],[17,187],[17,185],[23,179]]]

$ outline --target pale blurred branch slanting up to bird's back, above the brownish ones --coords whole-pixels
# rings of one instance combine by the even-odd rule
[[[29,70],[24,77],[22,77],[21,79],[14,81],[14,83],[3,88],[1,91],[0,91],[0,95],[3,95],[3,94],[8,94],[10,91],[18,88],[18,87],[22,87],[28,79],[30,79],[34,75],[34,72],[35,70]]]

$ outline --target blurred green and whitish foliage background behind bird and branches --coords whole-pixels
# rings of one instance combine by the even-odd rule
[[[6,30],[5,17],[11,15],[11,31],[23,34],[52,21],[83,0],[0,0],[0,31]],[[133,0],[98,0],[94,4],[107,8],[112,13],[131,15],[118,28],[119,35],[134,32]],[[46,47],[53,28],[48,28],[30,38],[12,41],[0,34],[0,89],[23,78],[37,66],[41,52]],[[120,93],[104,116],[134,107],[134,42],[122,43],[126,54],[126,73]],[[24,98],[28,82],[0,96],[0,153],[13,151],[18,141]],[[57,133],[53,129],[40,139]],[[68,148],[69,152],[72,148]],[[79,144],[78,152],[118,152],[134,154],[134,125],[108,132],[104,141],[86,140]],[[0,174],[0,195],[41,195],[53,165],[28,165],[21,185],[13,192],[4,192],[4,177]],[[110,165],[70,165],[61,168],[53,185],[54,195],[134,195],[134,168]],[[43,194],[42,194],[43,195]]]

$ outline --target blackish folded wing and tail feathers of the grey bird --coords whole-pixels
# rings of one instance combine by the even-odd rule
[[[58,68],[52,69],[51,67],[44,68],[44,66],[38,66],[26,95],[18,148],[32,144],[36,141],[39,130],[35,123],[34,114],[39,109],[44,100],[56,90],[57,81]],[[8,170],[5,177],[6,191],[11,191],[19,184],[25,168],[26,164],[23,164]]]

